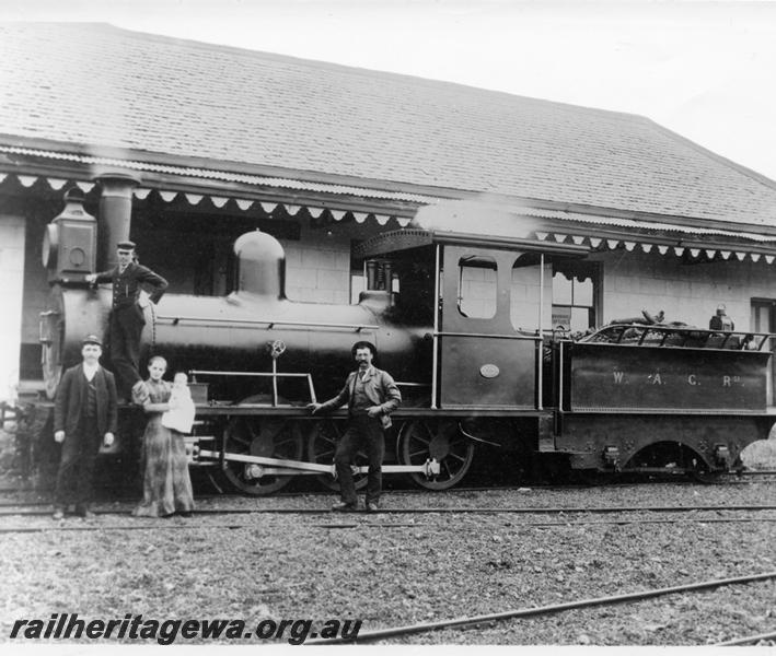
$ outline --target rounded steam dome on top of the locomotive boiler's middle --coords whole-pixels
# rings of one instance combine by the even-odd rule
[[[286,297],[286,251],[280,242],[256,230],[238,237],[234,255],[240,262],[239,292]]]

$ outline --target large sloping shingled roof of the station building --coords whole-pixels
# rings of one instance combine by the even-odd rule
[[[22,140],[776,225],[776,183],[634,115],[101,24],[0,43],[0,130]]]

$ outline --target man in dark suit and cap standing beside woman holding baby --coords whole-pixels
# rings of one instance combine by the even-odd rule
[[[92,475],[101,442],[113,444],[117,422],[116,382],[100,366],[102,343],[94,335],[81,342],[83,362],[62,375],[54,401],[54,440],[62,445],[54,518],[61,519],[68,505],[91,517]]]

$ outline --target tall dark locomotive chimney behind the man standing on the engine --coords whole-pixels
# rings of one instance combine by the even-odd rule
[[[132,219],[132,176],[107,173],[96,178],[102,186],[100,196],[100,230],[97,231],[97,271],[116,266],[116,244],[129,239]]]

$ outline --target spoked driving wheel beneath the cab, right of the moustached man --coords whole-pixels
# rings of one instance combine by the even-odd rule
[[[466,476],[474,458],[474,444],[459,431],[454,421],[410,421],[399,434],[397,456],[402,465],[438,460],[440,473],[436,478],[427,479],[419,472],[409,477],[427,490],[447,490]]]

